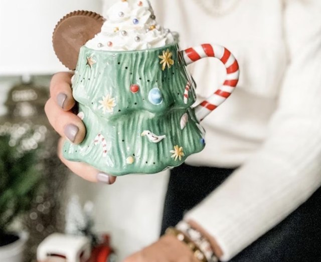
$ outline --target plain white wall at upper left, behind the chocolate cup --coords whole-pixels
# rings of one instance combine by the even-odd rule
[[[1,0],[0,75],[66,70],[53,52],[52,33],[75,10],[100,13],[101,0]]]

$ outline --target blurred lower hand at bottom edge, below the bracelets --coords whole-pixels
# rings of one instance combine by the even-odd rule
[[[164,235],[123,262],[199,262],[189,247],[173,235]]]

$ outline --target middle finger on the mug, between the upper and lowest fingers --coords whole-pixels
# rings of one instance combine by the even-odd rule
[[[50,124],[61,137],[67,138],[74,144],[80,144],[86,135],[86,128],[81,119],[69,111],[60,108],[53,98],[50,98],[45,105]]]

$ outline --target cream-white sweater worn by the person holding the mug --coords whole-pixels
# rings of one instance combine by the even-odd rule
[[[151,2],[182,48],[221,44],[240,64],[236,91],[203,121],[205,150],[187,161],[241,166],[186,214],[217,239],[225,261],[321,185],[321,1]],[[214,59],[192,69],[200,99],[224,79]]]

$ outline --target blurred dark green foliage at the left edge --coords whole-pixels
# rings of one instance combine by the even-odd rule
[[[42,183],[37,149],[18,150],[22,139],[12,146],[10,135],[0,136],[0,238],[31,208]]]

